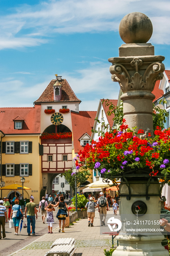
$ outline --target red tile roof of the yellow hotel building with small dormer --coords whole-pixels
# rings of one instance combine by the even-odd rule
[[[0,108],[0,130],[5,134],[40,133],[40,118],[40,105],[32,108]],[[14,129],[14,119],[24,119],[23,129]]]

